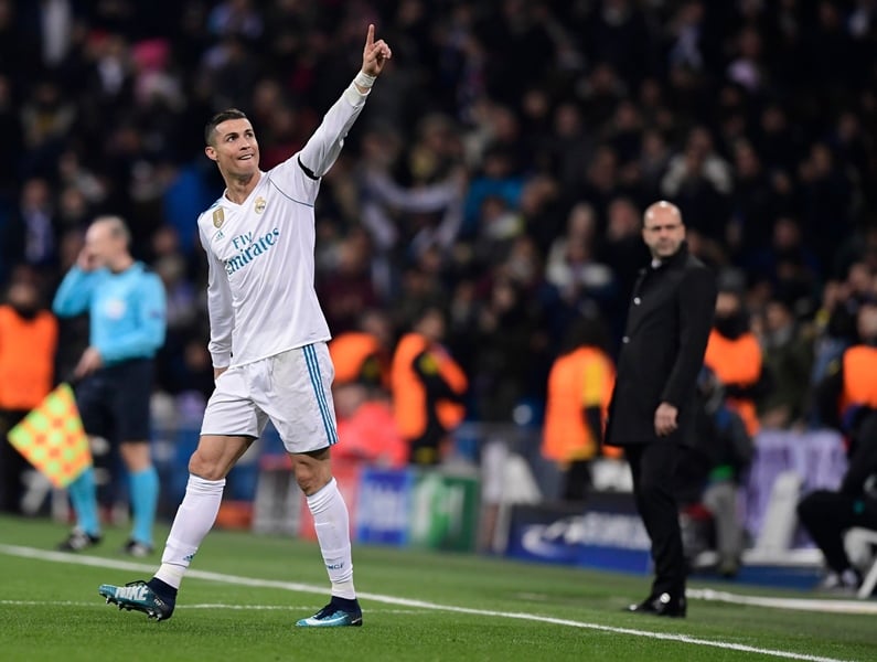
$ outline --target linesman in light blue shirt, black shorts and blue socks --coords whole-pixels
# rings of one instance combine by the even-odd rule
[[[131,257],[131,235],[118,216],[88,226],[76,264],[55,292],[58,317],[88,311],[89,346],[74,370],[76,404],[89,437],[104,437],[128,470],[131,535],[122,551],[148,556],[159,501],[159,477],[149,453],[149,403],[154,355],[164,342],[167,306],[159,277]],[[101,540],[94,468],[67,487],[76,526],[58,545],[79,552]]]

